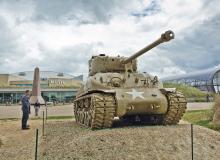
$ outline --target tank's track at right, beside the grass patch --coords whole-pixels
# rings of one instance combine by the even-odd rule
[[[180,92],[169,92],[166,96],[168,100],[168,111],[163,117],[162,124],[177,124],[186,111],[186,98]]]

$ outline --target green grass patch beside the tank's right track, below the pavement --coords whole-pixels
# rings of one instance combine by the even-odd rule
[[[212,122],[213,114],[214,112],[211,109],[187,111],[183,116],[183,120],[206,128],[219,130],[215,128]]]

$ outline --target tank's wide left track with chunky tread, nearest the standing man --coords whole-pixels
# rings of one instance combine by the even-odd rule
[[[74,101],[76,122],[91,129],[110,128],[116,111],[113,94],[92,93]]]

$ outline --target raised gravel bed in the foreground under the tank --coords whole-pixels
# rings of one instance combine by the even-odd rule
[[[127,126],[91,131],[73,121],[47,124],[44,159],[191,159],[190,125]],[[220,133],[194,126],[194,157],[218,160]]]

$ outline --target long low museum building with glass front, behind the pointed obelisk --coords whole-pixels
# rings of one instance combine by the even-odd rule
[[[33,71],[0,74],[0,103],[19,103],[25,90],[32,90]],[[41,94],[47,102],[70,103],[76,96],[83,76],[40,71]]]

